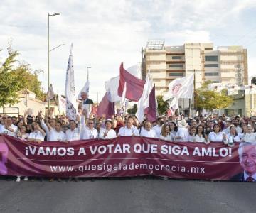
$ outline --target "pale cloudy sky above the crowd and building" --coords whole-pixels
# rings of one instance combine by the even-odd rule
[[[73,43],[75,89],[80,92],[90,69],[90,98],[105,94],[104,82],[119,75],[119,65],[142,61],[149,39],[166,45],[213,42],[214,47],[247,49],[249,76],[256,76],[256,0],[1,0],[0,61],[8,43],[19,60],[43,70],[47,90],[47,20],[50,16],[50,83],[64,94],[65,72]]]

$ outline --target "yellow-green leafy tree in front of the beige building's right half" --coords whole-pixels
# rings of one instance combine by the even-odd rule
[[[233,99],[228,96],[227,89],[220,92],[208,89],[208,84],[205,82],[201,88],[196,89],[196,107],[198,109],[223,109],[232,104]]]

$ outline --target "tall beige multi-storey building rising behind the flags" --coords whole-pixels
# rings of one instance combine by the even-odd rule
[[[169,83],[190,73],[196,89],[210,80],[223,84],[248,84],[247,50],[242,46],[218,47],[213,43],[184,43],[166,46],[164,40],[148,40],[142,50],[142,77],[150,70],[156,95],[163,95]]]

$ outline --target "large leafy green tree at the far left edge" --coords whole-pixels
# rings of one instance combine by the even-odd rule
[[[19,53],[11,48],[10,43],[7,50],[8,57],[0,66],[0,107],[18,102],[18,91],[21,89],[29,89],[36,93],[36,97],[43,97],[38,74],[31,73],[30,65],[16,60]]]

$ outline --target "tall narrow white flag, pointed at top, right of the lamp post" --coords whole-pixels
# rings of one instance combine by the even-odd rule
[[[66,97],[66,103],[67,103],[66,116],[70,120],[71,119],[75,120],[77,109],[76,109],[76,98],[75,98],[75,80],[74,80],[72,45],[70,49],[70,56],[68,58],[68,67],[66,72],[65,97]]]

